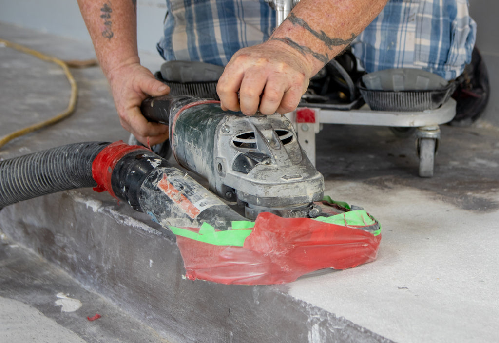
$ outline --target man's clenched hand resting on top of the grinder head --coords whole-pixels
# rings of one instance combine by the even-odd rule
[[[312,67],[289,46],[274,40],[234,54],[219,79],[223,110],[252,116],[293,111],[308,87]]]

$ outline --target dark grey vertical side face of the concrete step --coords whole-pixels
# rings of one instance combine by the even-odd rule
[[[7,206],[0,229],[172,342],[392,342],[286,294],[182,278],[174,237],[88,189]]]

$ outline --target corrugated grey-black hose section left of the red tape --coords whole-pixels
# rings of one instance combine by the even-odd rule
[[[0,208],[61,190],[93,187],[95,157],[109,143],[69,144],[0,162]]]

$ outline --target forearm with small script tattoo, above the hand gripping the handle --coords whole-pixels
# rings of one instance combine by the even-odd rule
[[[78,0],[105,75],[138,63],[136,0]]]

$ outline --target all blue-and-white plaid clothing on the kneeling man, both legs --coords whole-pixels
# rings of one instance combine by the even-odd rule
[[[242,47],[265,41],[275,11],[264,0],[166,0],[166,60],[226,65]],[[352,43],[367,72],[412,67],[448,80],[471,60],[476,23],[468,0],[390,0]]]

